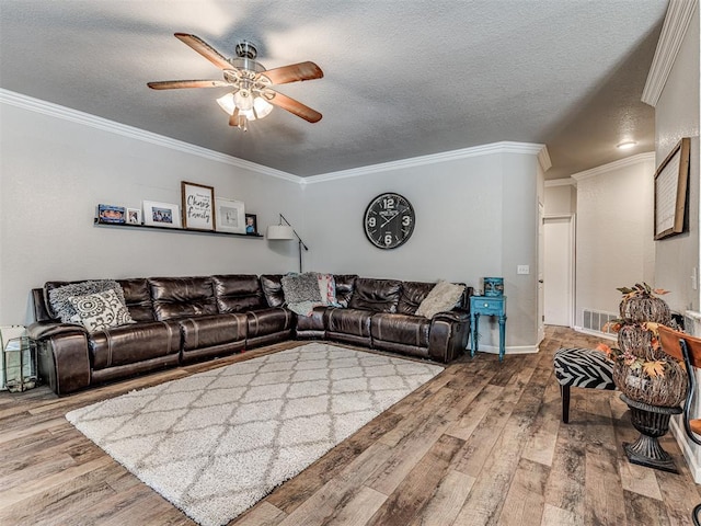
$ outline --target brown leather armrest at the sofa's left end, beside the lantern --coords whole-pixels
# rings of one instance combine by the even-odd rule
[[[70,323],[36,322],[27,327],[36,340],[39,376],[56,395],[90,386],[88,331]]]

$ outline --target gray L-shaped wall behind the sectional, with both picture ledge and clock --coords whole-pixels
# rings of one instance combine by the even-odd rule
[[[300,183],[188,145],[158,140],[96,117],[0,104],[0,324],[27,323],[30,289],[48,279],[297,271],[297,243],[93,225],[99,203],[180,204],[181,181],[215,187],[256,213],[281,211],[310,247],[304,268],[400,279],[466,282],[504,276],[507,345],[537,348],[538,145],[478,148]],[[499,144],[501,145],[501,144]],[[416,209],[403,247],[365,238],[363,213],[394,191]],[[517,275],[517,265],[529,275]],[[497,325],[482,323],[485,348]]]

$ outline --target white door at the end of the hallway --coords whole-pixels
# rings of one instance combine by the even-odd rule
[[[549,325],[572,327],[574,313],[574,218],[545,217],[544,316]]]

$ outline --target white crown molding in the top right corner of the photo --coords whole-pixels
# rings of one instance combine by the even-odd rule
[[[653,64],[641,98],[645,104],[653,107],[657,105],[697,4],[698,0],[669,0]]]

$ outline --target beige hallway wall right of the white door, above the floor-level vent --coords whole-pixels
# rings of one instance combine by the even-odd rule
[[[584,309],[618,312],[617,287],[654,284],[654,162],[652,155],[643,153],[573,175],[576,327],[583,325]]]

